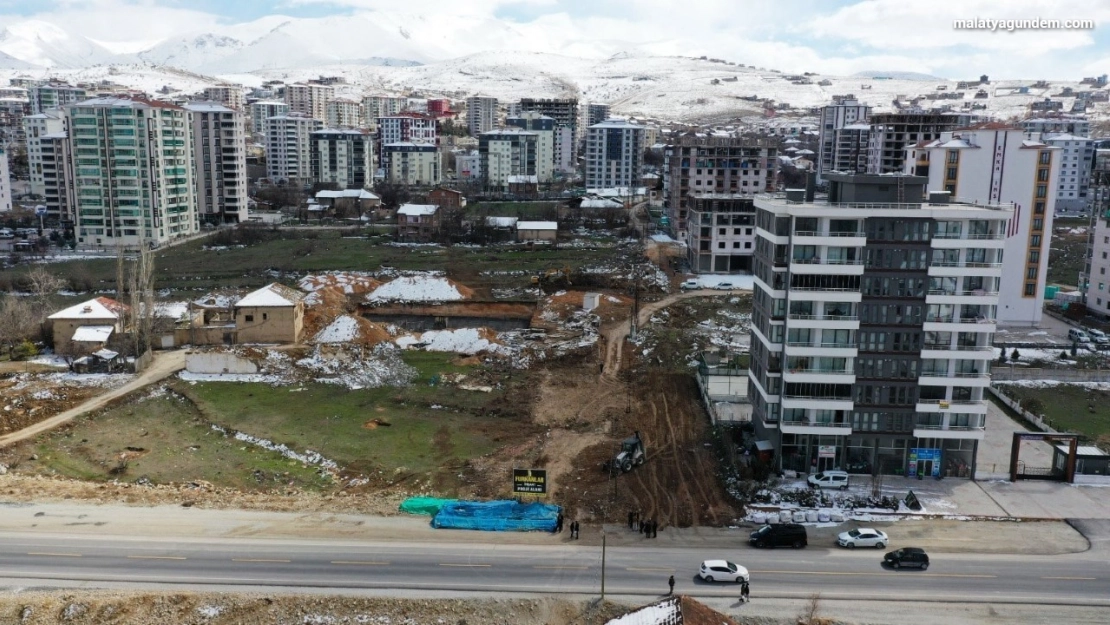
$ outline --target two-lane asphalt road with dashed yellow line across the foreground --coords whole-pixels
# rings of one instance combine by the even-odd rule
[[[1066,556],[936,554],[927,572],[891,571],[884,551],[808,547],[729,553],[705,548],[606,550],[606,593],[675,592],[733,597],[733,584],[696,577],[703,560],[726,557],[751,574],[753,596],[826,599],[1031,603],[1110,607],[1110,562]],[[602,550],[578,546],[444,545],[304,541],[178,541],[0,534],[0,578],[36,586],[121,583],[221,587],[567,593],[601,591]]]

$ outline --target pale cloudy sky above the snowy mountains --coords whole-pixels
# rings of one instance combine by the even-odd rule
[[[0,0],[0,24],[43,19],[141,48],[266,16],[375,10],[496,19],[536,33],[531,40],[537,42],[585,40],[574,52],[596,57],[633,48],[786,71],[901,70],[953,79],[1110,72],[1104,0]],[[1093,20],[1096,28],[953,30],[953,20],[975,18]]]

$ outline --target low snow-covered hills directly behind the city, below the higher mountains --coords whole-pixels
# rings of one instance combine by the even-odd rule
[[[281,29],[276,31],[281,32]],[[278,39],[269,41],[276,43]],[[216,41],[211,41],[211,44],[219,47]],[[195,52],[194,48],[192,53]],[[220,54],[222,52],[213,57]],[[337,94],[356,98],[367,93],[420,93],[453,99],[484,94],[508,102],[524,97],[573,97],[582,102],[612,104],[617,114],[697,122],[724,122],[761,115],[761,100],[765,99],[805,110],[828,103],[834,94],[854,93],[878,111],[890,111],[896,98],[957,91],[956,81],[831,75],[791,80],[791,77],[770,69],[682,57],[624,54],[595,60],[541,52],[482,52],[411,67],[321,64],[253,72],[234,69],[206,75],[143,64],[80,70],[0,70],[0,80],[14,75],[53,77],[71,82],[107,79],[149,93],[163,87],[169,87],[171,92],[193,93],[221,80],[258,87],[265,80],[294,82],[320,74],[345,77],[349,83],[337,85]],[[820,84],[823,82],[827,84]],[[985,111],[976,112],[1005,120],[1028,114],[1030,103],[1056,97],[1066,88],[1077,91],[1090,89],[1090,85],[1068,81],[1050,81],[1047,88],[1033,88],[1035,82],[995,81],[983,85],[987,98],[975,98],[979,89],[975,85],[962,90],[965,95],[961,100],[922,103],[926,107],[949,103],[957,110],[965,102],[986,104]],[[938,90],[938,87],[945,89]],[[1018,92],[1018,88],[1022,87],[1027,88],[1026,93]],[[1066,111],[1074,101],[1073,98],[1056,99],[1063,102]],[[1097,103],[1088,109],[1088,114],[1092,119],[1110,118],[1110,105]]]

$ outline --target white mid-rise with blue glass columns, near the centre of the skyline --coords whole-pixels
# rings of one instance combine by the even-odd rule
[[[644,127],[608,119],[586,129],[586,189],[639,187]]]

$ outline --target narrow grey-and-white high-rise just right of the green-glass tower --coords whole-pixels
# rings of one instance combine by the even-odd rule
[[[246,137],[243,113],[216,102],[191,102],[196,210],[213,225],[246,222]]]

